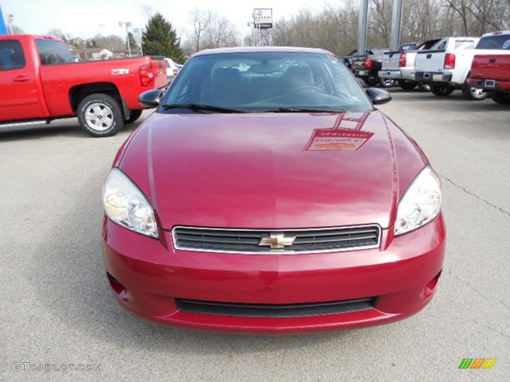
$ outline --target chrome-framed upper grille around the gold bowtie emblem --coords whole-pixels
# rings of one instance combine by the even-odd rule
[[[380,242],[380,228],[377,225],[300,230],[179,226],[174,227],[172,233],[175,249],[199,252],[275,254],[336,252],[377,248]],[[286,243],[284,248],[260,245],[261,242],[270,241],[271,236],[295,239],[291,244]]]

